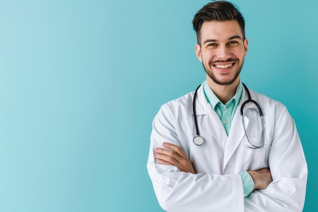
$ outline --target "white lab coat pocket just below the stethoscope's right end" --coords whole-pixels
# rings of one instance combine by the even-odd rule
[[[252,145],[261,146],[262,140],[260,138],[249,137],[249,144],[246,137],[244,140],[244,150],[243,150],[243,167],[244,170],[258,170],[260,168],[268,167],[268,155],[269,155],[269,142],[265,140],[265,145],[263,148],[252,149]]]

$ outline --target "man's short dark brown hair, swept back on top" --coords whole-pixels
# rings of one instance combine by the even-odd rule
[[[231,21],[236,20],[243,33],[243,41],[245,40],[245,21],[237,9],[237,6],[227,1],[211,2],[203,6],[201,10],[197,12],[192,23],[193,28],[197,33],[198,44],[201,42],[201,27],[205,21]]]

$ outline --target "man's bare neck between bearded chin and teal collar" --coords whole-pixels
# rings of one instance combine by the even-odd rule
[[[231,85],[218,85],[215,82],[213,82],[210,78],[207,78],[207,83],[213,93],[217,96],[217,98],[222,103],[227,103],[231,100],[231,98],[236,93],[236,88],[240,82],[240,78],[238,77]]]

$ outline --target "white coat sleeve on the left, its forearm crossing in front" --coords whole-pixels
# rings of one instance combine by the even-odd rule
[[[163,142],[181,146],[174,128],[176,120],[163,107],[153,120],[147,163],[161,207],[169,212],[243,211],[243,185],[239,174],[192,174],[176,166],[156,163],[154,150],[162,147]]]

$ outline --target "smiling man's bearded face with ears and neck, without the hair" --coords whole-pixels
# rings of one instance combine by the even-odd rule
[[[205,21],[201,26],[196,54],[207,74],[207,84],[219,93],[216,95],[222,93],[218,96],[222,102],[236,93],[247,47],[247,39],[236,20]],[[226,92],[218,92],[219,89]]]

